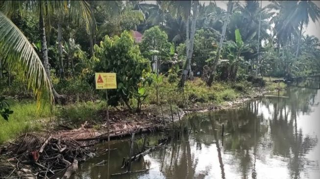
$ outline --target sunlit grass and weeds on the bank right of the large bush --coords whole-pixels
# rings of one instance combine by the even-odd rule
[[[185,107],[183,95],[191,103],[213,103],[220,105],[224,101],[232,101],[243,93],[248,93],[252,86],[249,82],[227,83],[215,82],[211,87],[206,86],[200,78],[185,83],[184,92],[177,91],[177,83],[170,83],[167,78],[158,88],[159,100],[161,103],[176,104],[178,107]],[[156,104],[156,88],[148,87],[148,97],[145,104]]]

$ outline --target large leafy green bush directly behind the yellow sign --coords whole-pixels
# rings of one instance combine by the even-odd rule
[[[144,86],[144,78],[150,71],[149,61],[142,57],[140,49],[134,45],[131,35],[124,31],[120,37],[105,36],[100,45],[95,45],[95,71],[117,73],[118,88],[110,93],[115,101],[122,99],[129,109],[129,99],[136,97]],[[112,91],[112,90],[111,90]]]

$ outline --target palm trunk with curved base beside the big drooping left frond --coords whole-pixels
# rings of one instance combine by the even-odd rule
[[[41,53],[43,59],[43,66],[45,67],[46,74],[48,76],[50,87],[53,93],[54,98],[61,98],[61,95],[58,94],[52,85],[52,80],[50,76],[50,66],[49,66],[49,59],[48,59],[48,48],[47,48],[47,40],[46,40],[46,31],[45,31],[45,22],[44,22],[44,15],[43,15],[43,7],[42,1],[39,1],[39,8],[40,8],[40,17],[39,17],[39,30],[40,30],[40,39],[41,39]]]

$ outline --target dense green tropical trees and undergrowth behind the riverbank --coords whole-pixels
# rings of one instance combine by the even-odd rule
[[[4,0],[0,114],[14,116],[1,96],[33,95],[44,101],[38,107],[51,103],[51,95],[62,104],[105,99],[95,90],[95,72],[116,72],[110,105],[137,112],[143,102],[183,107],[171,99],[178,88],[194,103],[234,100],[262,86],[262,76],[290,79],[320,70],[319,39],[304,33],[319,19],[310,0],[263,8],[259,1],[229,0],[227,10],[198,0]]]

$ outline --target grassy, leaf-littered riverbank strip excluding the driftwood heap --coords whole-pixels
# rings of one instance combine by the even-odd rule
[[[142,112],[131,112],[125,106],[110,108],[110,130],[125,134],[134,128],[152,131],[152,128],[163,128],[164,123],[170,124],[172,116],[174,121],[178,120],[179,116],[182,118],[184,111],[201,112],[234,108],[246,100],[276,90],[275,86],[278,84],[272,83],[270,78],[264,80],[265,87],[255,87],[253,83],[247,81],[235,84],[216,82],[212,87],[207,87],[197,78],[188,81],[182,93],[173,90],[176,88],[176,83],[170,83],[165,79],[158,88],[158,102],[161,105],[157,104],[156,88],[151,86],[148,88],[149,95],[144,102]],[[280,83],[280,90],[285,87],[284,83]],[[49,107],[37,111],[33,100],[10,99],[9,104],[14,113],[9,121],[0,121],[0,144],[30,132],[62,132],[82,128],[99,131],[99,134],[106,131],[105,101],[56,106],[51,112]]]

